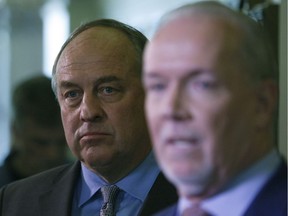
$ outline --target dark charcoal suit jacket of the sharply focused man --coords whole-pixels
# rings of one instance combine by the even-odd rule
[[[80,169],[80,162],[75,162],[6,185],[0,191],[0,215],[71,216]],[[176,201],[175,188],[160,173],[140,215],[151,215]]]

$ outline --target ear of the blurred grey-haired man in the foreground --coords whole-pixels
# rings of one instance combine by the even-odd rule
[[[272,79],[263,80],[257,88],[257,128],[271,125],[278,112],[278,85]]]

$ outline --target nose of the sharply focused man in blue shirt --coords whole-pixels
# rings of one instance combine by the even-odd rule
[[[101,101],[94,94],[84,94],[80,105],[80,119],[84,122],[101,121],[105,116]]]

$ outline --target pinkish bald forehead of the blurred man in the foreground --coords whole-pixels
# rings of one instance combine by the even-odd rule
[[[162,66],[167,68],[170,64],[183,66],[183,62],[215,63],[236,50],[235,32],[229,23],[209,16],[188,16],[169,21],[145,49],[145,71],[164,61],[166,64]]]

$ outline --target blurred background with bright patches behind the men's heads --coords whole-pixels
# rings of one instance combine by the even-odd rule
[[[10,95],[29,76],[51,75],[68,34],[96,18],[114,18],[151,37],[163,13],[195,0],[0,0],[0,164],[9,150]],[[220,0],[264,19],[279,57],[278,142],[287,157],[287,0]]]

